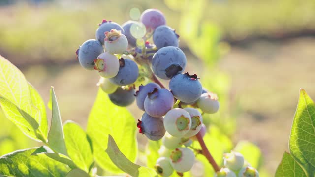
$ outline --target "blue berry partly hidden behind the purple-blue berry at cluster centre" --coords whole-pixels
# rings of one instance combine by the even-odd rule
[[[154,88],[160,89],[161,87],[156,83],[148,83],[145,86],[139,86],[139,91],[136,92],[136,102],[139,109],[144,110],[144,100],[148,96],[148,93],[152,92]]]

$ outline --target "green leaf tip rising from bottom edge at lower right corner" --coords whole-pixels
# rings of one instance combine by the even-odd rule
[[[306,175],[291,154],[284,152],[284,156],[277,168],[275,177],[306,177]]]

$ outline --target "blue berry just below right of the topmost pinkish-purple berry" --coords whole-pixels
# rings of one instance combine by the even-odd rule
[[[167,46],[178,47],[179,35],[175,33],[174,29],[166,25],[159,26],[153,32],[153,43],[158,49]]]

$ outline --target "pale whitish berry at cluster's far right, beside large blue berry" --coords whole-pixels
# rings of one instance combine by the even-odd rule
[[[208,114],[216,113],[219,110],[220,103],[218,101],[218,96],[212,92],[207,92],[201,94],[197,101],[197,106],[204,112]]]

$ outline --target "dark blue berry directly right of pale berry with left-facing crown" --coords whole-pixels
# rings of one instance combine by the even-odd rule
[[[109,81],[119,86],[126,86],[134,83],[139,75],[138,65],[131,59],[124,59],[125,65],[119,68],[118,74],[109,78]]]

